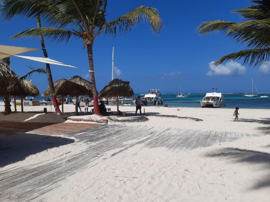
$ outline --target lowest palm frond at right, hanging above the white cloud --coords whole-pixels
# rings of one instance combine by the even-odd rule
[[[225,55],[220,58],[217,62],[215,62],[213,65],[214,67],[217,67],[218,65],[222,64],[222,62],[233,60],[233,61],[239,61],[241,59],[244,59],[243,64],[251,65],[262,65],[266,61],[269,61],[270,58],[270,48],[264,48],[264,49],[247,49],[247,50],[241,50],[236,53],[231,53],[228,55]]]

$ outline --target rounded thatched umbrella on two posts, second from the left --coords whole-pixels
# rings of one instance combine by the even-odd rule
[[[21,97],[21,107],[23,112],[23,97],[26,96],[37,96],[39,95],[38,88],[32,84],[32,82],[26,81],[25,79],[17,79],[17,81],[12,82],[8,86],[8,93],[9,95],[14,96],[14,105],[15,105],[15,112],[16,109],[16,96]]]

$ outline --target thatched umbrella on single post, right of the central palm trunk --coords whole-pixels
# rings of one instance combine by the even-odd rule
[[[116,96],[117,114],[119,114],[119,96],[131,97],[134,95],[132,88],[129,86],[129,81],[121,79],[113,79],[101,91],[99,97],[114,97]]]

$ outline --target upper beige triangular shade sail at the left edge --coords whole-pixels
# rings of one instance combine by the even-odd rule
[[[39,50],[39,48],[24,48],[24,47],[17,47],[17,46],[0,45],[0,59],[4,59],[12,55],[26,53],[26,52],[34,51],[34,50]]]

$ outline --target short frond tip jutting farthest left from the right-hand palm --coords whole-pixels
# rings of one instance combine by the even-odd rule
[[[212,20],[203,22],[200,26],[198,26],[198,30],[200,30],[200,34],[209,34],[212,32],[219,32],[219,31],[227,31],[234,22],[227,22],[223,20]]]

